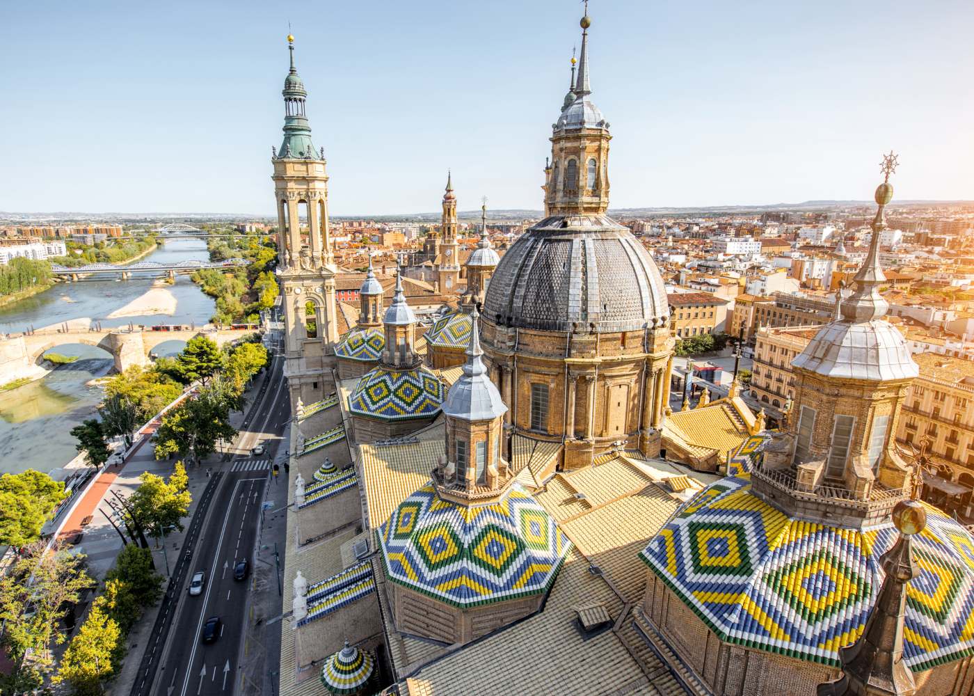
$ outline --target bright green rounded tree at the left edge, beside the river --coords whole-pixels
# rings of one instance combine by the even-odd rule
[[[0,544],[20,547],[37,541],[64,495],[64,483],[33,469],[0,476]]]

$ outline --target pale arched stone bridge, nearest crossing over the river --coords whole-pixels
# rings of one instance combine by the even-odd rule
[[[47,351],[71,343],[97,346],[110,353],[115,369],[122,371],[133,365],[148,365],[149,354],[166,341],[188,341],[204,335],[217,345],[237,340],[254,329],[103,329],[91,330],[68,327],[67,330],[41,329],[32,333],[18,333],[0,338],[0,384],[7,384],[23,376],[36,373]]]

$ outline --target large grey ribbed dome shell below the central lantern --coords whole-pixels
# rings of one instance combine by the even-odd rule
[[[666,289],[653,257],[608,215],[556,215],[511,245],[484,298],[505,327],[610,332],[666,326]]]

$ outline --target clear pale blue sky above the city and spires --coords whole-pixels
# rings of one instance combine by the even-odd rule
[[[0,5],[0,211],[272,213],[285,35],[333,214],[541,209],[581,4]],[[614,208],[974,198],[974,3],[593,0]]]

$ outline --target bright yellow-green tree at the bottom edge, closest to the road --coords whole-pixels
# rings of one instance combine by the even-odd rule
[[[67,681],[80,696],[100,696],[104,683],[115,676],[124,649],[121,627],[106,610],[104,598],[95,599],[61,657],[55,681]]]

